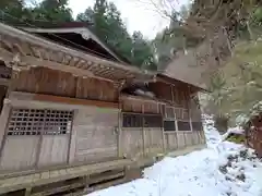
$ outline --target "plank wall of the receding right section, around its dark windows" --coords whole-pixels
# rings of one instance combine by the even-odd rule
[[[186,94],[184,94],[186,95]],[[168,103],[155,100],[146,100],[133,96],[122,96],[120,98],[122,111],[126,113],[156,113],[162,114],[164,121],[174,121],[172,131],[164,131],[164,127],[122,127],[122,151],[127,157],[150,157],[164,151],[172,151],[190,146],[202,145],[205,143],[203,130],[193,131],[192,120],[201,122],[201,112],[194,108],[195,101],[186,103]],[[193,105],[195,103],[195,105]],[[187,107],[186,107],[187,106]],[[191,119],[192,117],[192,119]],[[190,127],[187,131],[178,128],[178,122],[188,122]]]

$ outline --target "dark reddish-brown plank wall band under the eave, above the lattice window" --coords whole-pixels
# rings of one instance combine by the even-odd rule
[[[12,79],[14,91],[56,95],[63,97],[117,101],[118,93],[114,84],[94,77],[82,78],[71,73],[47,68],[32,68],[21,71]]]

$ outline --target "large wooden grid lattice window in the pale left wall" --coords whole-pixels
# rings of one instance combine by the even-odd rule
[[[8,135],[60,135],[71,130],[72,111],[13,109]]]

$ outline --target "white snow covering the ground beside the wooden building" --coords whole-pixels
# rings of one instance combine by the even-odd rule
[[[262,196],[262,163],[251,149],[229,142],[204,123],[209,148],[166,157],[144,177],[88,196]]]

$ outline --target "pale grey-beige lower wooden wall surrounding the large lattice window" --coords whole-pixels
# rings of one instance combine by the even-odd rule
[[[12,108],[74,111],[71,132],[60,135],[7,135],[0,128],[0,171],[44,169],[118,158],[118,108],[74,106],[34,100],[33,95],[11,93],[3,107],[7,124]],[[16,99],[19,98],[19,99]],[[3,139],[2,139],[3,138]]]

